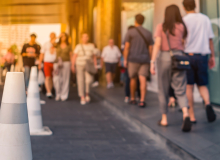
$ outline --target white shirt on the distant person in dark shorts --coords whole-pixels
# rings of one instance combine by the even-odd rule
[[[107,63],[118,63],[121,52],[117,46],[106,46],[102,51],[102,58]]]

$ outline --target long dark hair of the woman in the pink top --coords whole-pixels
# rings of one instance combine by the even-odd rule
[[[185,23],[183,22],[182,16],[180,14],[179,7],[176,5],[170,5],[166,8],[165,11],[165,20],[163,23],[163,31],[166,33],[169,31],[169,33],[173,36],[175,36],[174,29],[175,29],[175,24],[176,23],[181,23],[184,26],[184,34],[183,38],[187,37],[187,28]]]

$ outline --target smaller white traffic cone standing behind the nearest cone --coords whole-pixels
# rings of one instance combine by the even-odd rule
[[[48,127],[43,127],[40,93],[37,80],[37,67],[31,68],[30,80],[27,92],[28,118],[30,134],[33,136],[49,136],[52,131]]]

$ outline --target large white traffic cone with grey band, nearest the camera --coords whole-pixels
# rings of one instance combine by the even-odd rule
[[[24,74],[8,72],[0,112],[0,160],[32,160]]]

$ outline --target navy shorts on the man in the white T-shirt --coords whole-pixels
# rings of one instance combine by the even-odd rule
[[[186,55],[189,57],[191,65],[191,69],[187,70],[187,84],[208,85],[208,55]]]

